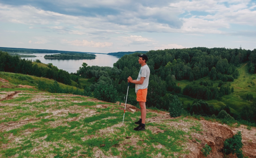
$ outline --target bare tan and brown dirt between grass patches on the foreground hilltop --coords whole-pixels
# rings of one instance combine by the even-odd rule
[[[8,82],[1,80],[1,82]],[[26,87],[26,88],[34,88],[32,86],[22,86],[20,87]],[[22,128],[26,124],[35,124],[39,122],[41,119],[52,119],[54,118],[54,122],[48,122],[47,126],[49,128],[57,128],[59,126],[68,126],[68,122],[78,122],[79,120],[83,120],[84,118],[89,118],[92,116],[97,116],[102,112],[101,110],[108,109],[111,112],[120,112],[120,110],[124,110],[125,104],[119,105],[119,102],[117,104],[104,104],[106,102],[103,102],[101,100],[97,100],[95,98],[88,98],[84,96],[77,96],[73,94],[58,94],[58,95],[51,95],[49,93],[45,92],[25,92],[25,91],[13,91],[13,92],[1,92],[1,100],[0,100],[0,106],[5,106],[5,108],[0,108],[0,120],[4,120],[6,117],[12,118],[18,116],[19,113],[25,113],[24,111],[26,109],[27,112],[34,111],[35,114],[42,114],[42,113],[48,113],[48,116],[42,116],[42,117],[35,117],[35,116],[26,116],[21,117],[18,121],[9,121],[9,122],[2,122],[0,123],[0,132],[8,132],[10,130]],[[25,96],[31,96],[31,98],[28,98],[27,100],[23,100],[21,102],[13,102],[10,103],[9,100],[16,99],[21,97],[22,95]],[[70,98],[71,97],[71,98]],[[82,99],[76,99],[72,97],[82,97]],[[66,101],[65,101],[66,100]],[[8,102],[6,102],[8,101]],[[68,103],[67,103],[68,102]],[[79,106],[79,104],[83,102],[94,102],[95,104],[92,106]],[[72,104],[72,105],[70,105]],[[118,107],[116,110],[116,107]],[[7,110],[7,109],[10,110]],[[20,110],[20,111],[19,111]],[[126,104],[126,111],[130,112],[130,114],[136,114],[136,112],[140,112],[140,109],[136,108],[135,106],[132,106],[130,104]],[[16,112],[16,113],[15,113]],[[17,113],[18,112],[18,113]],[[220,124],[218,122],[210,122],[206,120],[196,120],[194,118],[184,118],[184,117],[178,117],[178,118],[171,118],[168,112],[160,111],[160,110],[152,110],[148,109],[147,112],[149,114],[152,114],[151,117],[146,118],[146,124],[164,124],[168,129],[179,129],[181,131],[184,131],[186,133],[191,133],[191,136],[186,135],[187,142],[184,142],[182,146],[184,146],[184,150],[188,150],[188,154],[182,154],[180,157],[185,158],[204,158],[202,154],[202,148],[205,144],[208,144],[212,148],[212,152],[210,152],[210,155],[207,156],[207,158],[223,158],[223,145],[224,141],[227,138],[231,138],[236,134],[238,131],[242,132],[242,143],[244,144],[242,150],[245,156],[248,156],[248,158],[256,158],[256,128],[252,128],[252,130],[248,130],[246,126],[241,125],[238,128],[230,127],[225,124]],[[78,114],[74,117],[69,117],[69,114]],[[110,116],[106,118],[102,118],[101,120],[114,120],[117,116]],[[137,118],[133,117],[131,118],[132,121],[135,121]],[[96,121],[90,122],[89,125],[94,125]],[[198,125],[198,129],[200,130],[192,130],[194,126]],[[84,125],[81,125],[80,128],[83,128]],[[104,126],[104,123],[102,124]],[[200,126],[200,128],[199,128]],[[124,123],[122,126],[122,122],[118,122],[117,124],[114,124],[112,126],[108,126],[106,128],[102,128],[100,130],[97,130],[95,134],[86,135],[82,137],[82,141],[86,141],[89,139],[95,139],[99,138],[101,136],[104,137],[111,137],[112,135],[118,133],[123,128],[129,128],[128,123]],[[84,130],[88,130],[89,128],[84,128]],[[146,126],[146,129],[150,131],[151,134],[157,135],[157,134],[163,134],[165,130],[159,126]],[[196,129],[196,128],[195,128]],[[22,143],[22,139],[29,138],[33,132],[40,130],[39,128],[32,128],[32,129],[26,129],[23,131],[22,135],[20,136],[14,136],[13,134],[10,134],[8,136],[8,139],[10,139],[8,143],[6,144],[0,144],[0,150],[6,150],[8,148],[11,148],[13,146],[16,146],[18,143]],[[71,132],[76,131],[76,128],[72,129]],[[45,142],[44,139],[46,139],[47,136],[44,136],[42,138],[37,138],[34,140],[35,142],[44,142],[42,146],[38,146],[33,149],[33,152],[42,151],[45,148],[48,148],[49,146],[55,145],[57,142],[51,143],[51,142]],[[120,137],[122,137],[120,135]],[[170,138],[169,138],[170,139]],[[65,145],[65,149],[62,149],[65,151],[67,148],[72,148],[72,145],[67,144],[64,142],[64,140],[60,140],[60,142],[63,142]],[[142,140],[137,135],[131,135],[131,136],[124,136],[124,140],[116,146],[116,149],[118,152],[123,152],[127,150],[127,146],[133,146],[134,148],[141,150],[142,146],[140,144],[144,144],[146,146],[146,143],[144,143],[144,140]],[[165,146],[163,144],[152,144],[152,146],[156,149],[164,149]],[[61,151],[62,151],[61,150]],[[47,152],[47,151],[45,151]],[[111,158],[120,158],[121,156],[113,156],[110,153],[107,154],[106,152],[100,147],[94,147],[92,149],[92,152],[94,152],[94,156],[96,158],[98,157],[111,157]],[[136,154],[139,154],[139,152],[136,152]],[[56,154],[55,154],[56,155]],[[175,153],[174,153],[175,155]],[[1,155],[0,155],[1,156]],[[13,157],[18,156],[17,154]],[[54,154],[49,154],[49,157],[54,157]],[[86,154],[82,154],[82,151],[78,152],[77,156],[84,156],[86,157]],[[164,157],[161,153],[154,155],[155,157],[162,158]],[[76,157],[76,156],[75,156]],[[228,158],[236,158],[236,155],[228,155]]]

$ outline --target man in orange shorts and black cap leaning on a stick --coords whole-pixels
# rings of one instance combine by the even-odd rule
[[[135,122],[135,124],[139,124],[138,127],[134,128],[134,130],[145,130],[145,120],[146,120],[146,98],[148,92],[148,80],[150,75],[150,70],[148,65],[146,64],[148,61],[148,57],[144,54],[139,56],[139,64],[141,65],[140,72],[137,80],[132,80],[131,76],[128,77],[128,82],[134,83],[135,91],[137,95],[137,101],[140,104],[140,112],[141,117],[140,120]]]

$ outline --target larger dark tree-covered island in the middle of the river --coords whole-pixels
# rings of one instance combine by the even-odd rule
[[[60,53],[53,55],[45,55],[45,59],[95,59],[96,55],[87,53]]]

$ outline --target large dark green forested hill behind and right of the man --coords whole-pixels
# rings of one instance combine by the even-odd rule
[[[122,101],[127,92],[128,76],[133,79],[138,76],[141,67],[138,54],[122,56],[113,68],[87,66],[84,63],[76,75],[88,78],[92,91],[104,89],[105,86],[112,91],[115,89],[117,93],[112,96]],[[256,76],[250,75],[256,72],[256,49],[197,47],[150,50],[146,55],[150,68],[146,106],[168,110],[179,105],[175,100],[184,100],[183,107],[190,114],[218,116],[224,110],[223,118],[256,122],[256,103],[252,104]],[[242,65],[248,77],[244,72],[242,76],[239,74]],[[234,81],[245,80],[248,81],[242,87],[233,84]],[[127,98],[132,105],[137,104],[134,86],[130,85]],[[252,89],[248,91],[250,87]]]

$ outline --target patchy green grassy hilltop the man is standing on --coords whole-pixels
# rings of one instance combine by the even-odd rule
[[[0,86],[15,86],[11,75],[1,75],[10,82]],[[6,89],[0,88],[1,98]],[[140,111],[128,110],[122,126],[123,109],[84,96],[22,89],[0,102],[0,157],[183,157],[189,153],[186,143],[202,131],[197,120],[154,112],[147,113],[144,132],[134,131]]]

